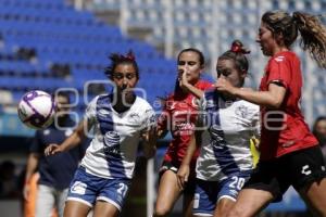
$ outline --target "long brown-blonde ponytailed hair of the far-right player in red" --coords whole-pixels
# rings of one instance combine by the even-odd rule
[[[293,12],[292,16],[285,11],[268,11],[262,22],[275,35],[283,35],[284,43],[290,47],[301,35],[300,47],[309,51],[319,67],[326,68],[326,27],[318,16],[304,12]]]

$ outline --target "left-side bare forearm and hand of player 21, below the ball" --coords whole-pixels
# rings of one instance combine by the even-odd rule
[[[68,151],[74,146],[80,144],[82,140],[86,138],[86,129],[87,120],[82,120],[75,131],[66,138],[61,144],[49,144],[45,150],[46,156],[58,154],[60,152]]]

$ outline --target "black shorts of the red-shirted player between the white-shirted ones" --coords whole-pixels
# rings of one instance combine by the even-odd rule
[[[195,166],[196,166],[196,164],[190,166],[190,175],[189,175],[188,181],[186,183],[186,187],[184,189],[184,194],[191,194],[191,195],[195,194],[195,189],[196,189]],[[163,161],[162,166],[160,168],[160,173],[159,173],[159,181],[161,181],[161,177],[166,170],[172,170],[175,174],[177,174],[179,167],[180,167],[180,165],[177,163]]]

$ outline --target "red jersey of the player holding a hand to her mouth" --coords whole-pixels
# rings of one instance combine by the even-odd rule
[[[199,80],[195,87],[204,91],[211,88],[212,84]],[[195,129],[198,111],[197,104],[195,95],[181,91],[166,99],[165,107],[159,118],[158,125],[160,129],[170,130],[173,139],[167,148],[164,161],[180,165]],[[192,161],[197,159],[198,154],[199,150],[196,151]]]

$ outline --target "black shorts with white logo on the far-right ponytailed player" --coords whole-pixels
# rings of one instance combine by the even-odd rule
[[[319,146],[299,150],[273,161],[260,162],[243,189],[268,191],[274,202],[281,201],[290,186],[297,191],[326,177]]]

